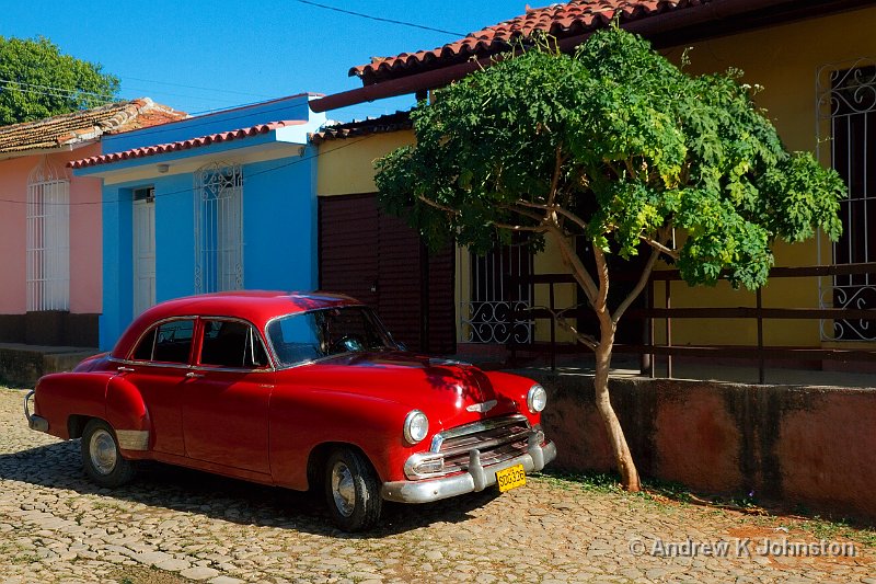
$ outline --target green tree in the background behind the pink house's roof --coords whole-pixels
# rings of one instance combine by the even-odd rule
[[[102,105],[118,87],[100,65],[61,54],[48,38],[0,36],[0,126]]]

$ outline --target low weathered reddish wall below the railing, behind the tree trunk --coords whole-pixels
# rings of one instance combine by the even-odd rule
[[[554,465],[613,470],[592,378],[526,375],[550,394]],[[645,477],[876,520],[876,389],[622,378],[611,399]]]

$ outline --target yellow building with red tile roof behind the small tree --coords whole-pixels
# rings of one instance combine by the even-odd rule
[[[486,27],[473,37],[439,49],[376,59],[356,67],[351,73],[362,79],[364,88],[327,96],[314,102],[313,107],[326,110],[435,89],[477,67],[472,59],[483,60],[507,48],[507,41],[517,34],[515,31],[529,34],[545,30],[560,39],[563,48],[570,49],[592,30],[608,24],[612,15],[606,11],[609,4],[618,7],[623,27],[649,38],[671,60],[681,62],[682,54],[688,50],[691,73],[744,70],[745,82],[764,88],[757,94],[758,105],[769,112],[786,146],[816,152],[823,164],[833,165],[846,180],[850,197],[842,207],[843,239],[835,245],[825,239],[795,245],[779,243],[777,266],[876,262],[876,35],[873,34],[876,2],[873,1],[827,1],[814,5],[786,0],[699,3],[579,0],[530,9],[514,21]],[[475,44],[473,38],[480,42]],[[403,115],[365,126],[346,125],[320,145],[320,153],[325,156],[321,156],[319,164],[319,195],[372,196],[373,160],[413,140]],[[546,285],[521,285],[515,276],[564,272],[551,248],[535,257],[511,248],[485,259],[472,257],[458,249],[452,260],[451,312],[456,311],[456,316],[449,317],[445,310],[441,318],[452,318],[458,343],[474,342],[500,353],[509,342],[548,340],[549,321],[538,320],[534,327],[515,325],[508,322],[508,313],[512,306],[550,302]],[[876,350],[876,319],[862,318],[860,312],[853,313],[854,318],[828,319],[825,313],[820,314],[822,318],[814,318],[819,314],[811,312],[829,308],[876,309],[874,265],[860,267],[868,273],[858,275],[773,277],[762,291],[763,308],[810,309],[810,313],[805,314],[808,319],[788,319],[784,314],[763,320],[762,344]],[[653,306],[667,306],[666,288],[664,282],[655,283],[649,299]],[[714,289],[690,288],[675,282],[670,290],[673,308],[757,306],[754,294],[733,290],[726,285]],[[574,284],[555,286],[556,308],[579,301]],[[433,327],[434,321],[435,318]],[[654,341],[665,344],[666,321],[655,319],[654,323]],[[752,318],[673,318],[671,343],[756,346],[758,329],[758,321]],[[622,342],[642,344],[643,335],[647,336],[642,322],[633,321],[627,324]],[[557,339],[569,340],[562,331],[557,332]],[[817,353],[812,353],[814,358],[799,355],[792,357],[810,363],[820,363],[823,357]]]

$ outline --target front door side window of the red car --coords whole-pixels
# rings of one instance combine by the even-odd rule
[[[250,324],[231,320],[204,320],[201,365],[256,369],[268,364],[262,339]]]

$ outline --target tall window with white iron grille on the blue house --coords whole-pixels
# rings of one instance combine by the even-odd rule
[[[215,163],[195,173],[195,291],[243,288],[243,175]]]

